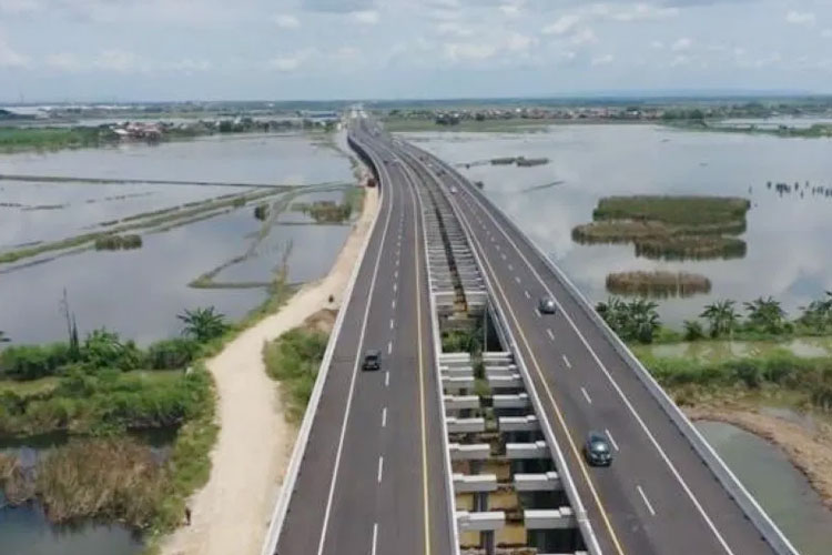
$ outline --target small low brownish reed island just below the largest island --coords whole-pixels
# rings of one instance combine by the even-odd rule
[[[708,278],[687,272],[618,272],[607,275],[607,291],[619,295],[691,296],[710,290]]]

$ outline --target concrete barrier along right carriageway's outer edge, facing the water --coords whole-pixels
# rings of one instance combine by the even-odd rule
[[[439,161],[435,157],[435,160]],[[460,184],[465,184],[480,201],[488,204],[501,220],[544,261],[546,266],[552,272],[564,287],[569,291],[575,302],[584,310],[589,319],[601,330],[607,340],[612,344],[616,352],[623,359],[627,365],[632,370],[636,376],[641,381],[651,396],[659,403],[661,408],[676,425],[679,432],[688,440],[699,457],[704,462],[714,477],[720,482],[729,496],[737,502],[745,516],[754,524],[765,542],[780,555],[799,555],[794,546],[783,535],[780,528],[773,523],[771,517],[763,511],[757,500],[749,493],[745,486],[737,478],[722,458],[713,451],[713,447],[706,441],[702,434],[691,424],[690,420],[668,396],[664,390],[659,385],[656,379],[639,360],[632,354],[630,349],[620,340],[620,337],[609,327],[607,322],[601,319],[592,309],[580,290],[567,278],[567,275],[545,254],[542,249],[535,243],[496,204],[494,204],[485,194],[471,185],[467,179],[461,176],[456,170],[445,162],[439,161],[447,168],[451,175]]]

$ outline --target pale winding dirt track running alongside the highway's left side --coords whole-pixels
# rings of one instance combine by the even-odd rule
[[[341,306],[377,210],[378,190],[367,189],[362,214],[326,278],[304,285],[278,312],[207,362],[216,381],[220,423],[211,477],[189,502],[191,525],[161,543],[163,555],[260,553],[297,433],[286,423],[278,387],[266,375],[263,343],[313,315],[313,325],[331,320],[325,311]]]

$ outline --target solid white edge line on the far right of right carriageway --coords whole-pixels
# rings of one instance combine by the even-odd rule
[[[697,496],[693,495],[693,492],[690,490],[690,487],[688,486],[688,484],[684,482],[684,478],[682,478],[681,474],[679,474],[679,471],[676,468],[676,465],[670,461],[670,457],[668,457],[667,453],[664,453],[664,450],[661,448],[661,445],[659,445],[659,442],[656,440],[656,437],[653,436],[652,432],[650,432],[650,430],[645,424],[645,421],[641,418],[641,416],[638,414],[638,412],[636,412],[636,408],[632,406],[632,403],[630,403],[630,400],[627,398],[627,395],[623,394],[623,391],[621,391],[621,387],[618,385],[618,382],[616,382],[612,379],[612,375],[609,373],[609,371],[607,370],[607,367],[603,365],[603,363],[601,362],[601,360],[598,357],[598,354],[589,345],[589,342],[584,336],[584,334],[580,332],[580,330],[578,329],[578,326],[575,324],[575,321],[572,321],[572,319],[569,316],[569,314],[564,310],[564,306],[560,304],[560,302],[557,300],[557,297],[555,297],[552,295],[551,290],[546,284],[546,282],[542,280],[542,278],[540,278],[540,274],[537,272],[537,270],[535,270],[535,266],[529,262],[529,260],[526,258],[526,255],[522,253],[522,251],[517,246],[517,243],[508,235],[508,233],[503,228],[503,225],[500,225],[497,222],[497,219],[494,216],[494,214],[491,214],[490,210],[486,209],[485,205],[483,204],[483,202],[479,199],[477,199],[476,196],[474,196],[473,193],[468,192],[468,194],[471,195],[471,198],[474,198],[474,200],[478,204],[479,209],[491,220],[491,223],[498,230],[500,230],[500,233],[503,233],[503,236],[506,238],[506,241],[508,241],[508,243],[514,248],[514,250],[517,252],[517,254],[520,256],[520,259],[522,259],[522,261],[525,262],[526,266],[528,266],[528,269],[531,270],[531,273],[535,275],[535,278],[537,279],[537,281],[544,286],[544,289],[546,290],[546,292],[550,296],[552,296],[552,299],[555,299],[555,303],[558,305],[558,309],[564,314],[564,316],[566,316],[566,320],[567,320],[567,322],[569,322],[569,325],[572,327],[572,330],[575,330],[575,333],[578,335],[578,339],[581,341],[581,343],[587,349],[587,351],[589,351],[589,354],[592,356],[592,359],[596,361],[596,363],[601,369],[601,371],[603,372],[603,374],[607,376],[607,380],[612,385],[612,389],[616,390],[616,393],[618,393],[618,396],[621,397],[621,401],[625,403],[625,405],[627,406],[627,408],[629,410],[630,414],[633,416],[633,418],[636,420],[636,422],[638,422],[639,426],[645,432],[645,434],[647,435],[647,437],[650,440],[650,443],[652,443],[652,445],[656,448],[656,451],[659,452],[659,456],[662,458],[662,461],[664,461],[664,464],[668,466],[668,468],[670,470],[670,472],[673,475],[673,477],[676,478],[676,481],[679,483],[679,485],[682,487],[682,490],[684,491],[684,493],[688,495],[688,498],[691,501],[691,503],[693,503],[693,506],[697,508],[697,511],[699,512],[699,514],[702,517],[702,519],[706,522],[706,524],[708,525],[708,527],[710,528],[710,531],[717,537],[717,541],[719,542],[719,544],[722,546],[722,548],[726,551],[726,553],[728,553],[729,555],[733,555],[733,551],[731,551],[731,547],[726,542],[726,538],[722,537],[722,534],[720,534],[719,529],[717,529],[717,525],[713,524],[713,521],[711,521],[711,517],[708,516],[708,513],[706,513],[704,507],[702,507],[702,504],[699,502],[699,500],[697,498]]]

